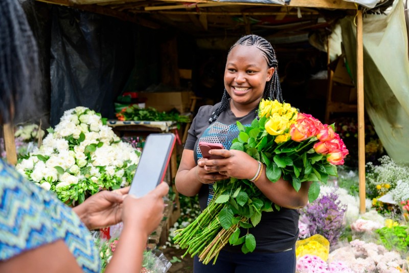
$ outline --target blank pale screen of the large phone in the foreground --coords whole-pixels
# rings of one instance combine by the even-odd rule
[[[148,135],[129,194],[142,197],[163,181],[174,144],[174,134]]]

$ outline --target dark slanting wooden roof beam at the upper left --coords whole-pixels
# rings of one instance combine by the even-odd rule
[[[141,26],[151,28],[151,29],[161,28],[161,25],[151,22],[147,19],[138,18],[138,17],[135,17],[134,15],[130,15],[122,11],[113,10],[113,9],[106,8],[106,7],[99,6],[99,5],[77,5],[75,3],[72,3],[71,0],[36,0],[36,1],[49,3],[49,4],[63,5],[63,6],[68,6],[68,7],[72,7],[75,9],[80,9],[84,11],[107,15],[107,16],[115,17],[115,18],[118,18],[120,20],[127,21],[127,22],[132,22],[134,24],[141,25]]]

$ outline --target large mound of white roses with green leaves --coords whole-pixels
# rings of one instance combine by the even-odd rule
[[[102,188],[127,186],[140,152],[105,123],[85,107],[65,111],[40,148],[19,161],[17,171],[69,204],[82,203]]]

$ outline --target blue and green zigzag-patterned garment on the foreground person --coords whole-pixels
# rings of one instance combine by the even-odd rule
[[[60,239],[84,272],[100,271],[93,238],[74,211],[0,160],[0,261]]]

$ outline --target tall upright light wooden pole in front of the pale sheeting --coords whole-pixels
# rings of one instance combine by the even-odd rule
[[[356,14],[356,86],[358,97],[358,177],[359,213],[365,213],[365,119],[363,109],[363,31],[362,11]]]

